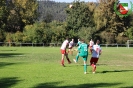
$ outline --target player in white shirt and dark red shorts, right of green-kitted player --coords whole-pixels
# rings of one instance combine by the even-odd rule
[[[92,47],[92,57],[90,59],[90,65],[92,66],[92,72],[96,71],[96,63],[98,62],[99,56],[101,55],[102,49],[99,45],[100,41],[97,40],[96,44]]]

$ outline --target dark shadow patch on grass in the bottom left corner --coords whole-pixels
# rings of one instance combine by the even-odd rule
[[[11,88],[13,85],[16,85],[19,81],[18,77],[7,77],[0,79],[1,88]]]

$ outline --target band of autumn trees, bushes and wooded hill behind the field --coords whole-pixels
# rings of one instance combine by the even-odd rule
[[[61,43],[66,37],[126,43],[133,39],[133,13],[118,16],[116,0],[70,3],[0,1],[0,42]]]

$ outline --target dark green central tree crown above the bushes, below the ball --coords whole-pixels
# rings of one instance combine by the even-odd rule
[[[85,2],[75,1],[72,8],[66,9],[67,13],[67,30],[78,31],[82,27],[93,27],[94,23],[91,18],[91,12]]]

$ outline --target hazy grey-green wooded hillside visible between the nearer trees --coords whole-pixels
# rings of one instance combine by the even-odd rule
[[[67,4],[68,3],[65,2],[59,3],[52,0],[38,0],[38,20],[48,23],[54,20],[64,22],[66,20],[64,9]]]

